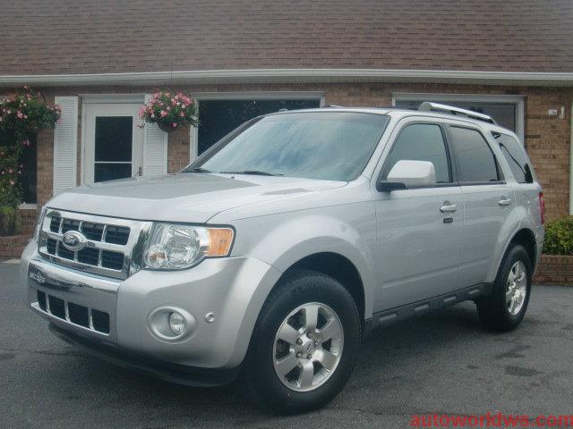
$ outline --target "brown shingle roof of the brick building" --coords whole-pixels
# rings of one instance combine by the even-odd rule
[[[4,0],[0,75],[573,71],[571,0]]]

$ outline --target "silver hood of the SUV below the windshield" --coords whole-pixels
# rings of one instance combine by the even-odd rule
[[[239,206],[344,185],[346,181],[181,172],[81,186],[56,195],[47,206],[126,219],[206,223]]]

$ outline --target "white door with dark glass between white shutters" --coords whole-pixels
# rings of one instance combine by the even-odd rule
[[[83,182],[112,181],[141,174],[143,131],[138,104],[87,104]]]

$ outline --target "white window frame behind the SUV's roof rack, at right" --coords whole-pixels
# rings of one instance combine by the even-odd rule
[[[525,141],[525,96],[518,95],[491,95],[491,94],[435,94],[435,93],[410,93],[395,92],[392,93],[392,105],[397,101],[435,101],[438,103],[448,104],[448,102],[466,102],[466,103],[492,103],[492,104],[512,104],[516,105],[516,134],[522,144]]]

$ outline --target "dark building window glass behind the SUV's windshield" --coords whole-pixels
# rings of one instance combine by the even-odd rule
[[[252,118],[280,109],[320,107],[321,100],[201,100],[199,102],[199,147],[201,155],[219,139]]]

